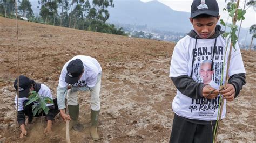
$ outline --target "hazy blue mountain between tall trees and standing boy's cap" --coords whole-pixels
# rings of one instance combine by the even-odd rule
[[[147,25],[150,29],[184,33],[192,28],[188,19],[190,13],[174,11],[157,1],[116,0],[113,3],[108,23]]]

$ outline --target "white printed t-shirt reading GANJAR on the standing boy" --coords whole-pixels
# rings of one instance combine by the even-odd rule
[[[213,46],[215,39],[198,39],[197,47],[195,49],[196,39],[186,36],[181,39],[176,46],[174,47],[171,67],[170,67],[170,77],[178,77],[181,75],[190,76],[192,71],[192,59],[193,59],[193,50],[195,51],[195,61],[193,64],[193,75],[192,78],[196,82],[202,82],[200,77],[200,63],[204,60],[212,60],[214,58],[213,70],[214,74],[212,80],[214,81],[214,88],[219,89],[221,81],[221,73],[223,72],[224,65],[224,78],[226,77],[227,70],[227,59],[230,48],[225,48],[226,42],[223,37],[217,37],[217,51],[213,57]],[[226,51],[226,52],[225,52]],[[242,62],[242,57],[238,44],[235,45],[235,49],[232,49],[231,53],[231,62],[230,69],[228,70],[228,76],[234,74],[245,73],[244,63]],[[208,100],[206,104],[203,104],[203,99],[192,99],[186,95],[183,95],[179,90],[172,102],[173,111],[182,117],[188,119],[197,119],[197,120],[216,120],[218,115],[218,106],[219,97]],[[226,114],[226,100],[224,101],[223,113],[221,118],[224,118]]]

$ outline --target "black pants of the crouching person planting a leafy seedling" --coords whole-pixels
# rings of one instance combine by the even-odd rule
[[[34,117],[32,112],[32,105],[34,103],[30,103],[29,105],[25,106],[27,102],[28,100],[23,102],[23,110],[25,115],[29,117],[29,123],[31,123]],[[50,110],[48,111],[47,115],[45,115],[45,113],[42,111],[43,115],[42,112],[40,114],[36,113],[35,117],[46,116],[46,120],[54,120],[54,117],[59,113],[57,98],[53,99],[53,103],[54,105],[49,106]]]

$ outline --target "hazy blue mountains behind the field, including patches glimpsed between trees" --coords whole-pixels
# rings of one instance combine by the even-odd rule
[[[180,35],[188,33],[193,28],[189,21],[189,12],[172,10],[158,1],[144,3],[140,0],[113,0],[113,3],[114,8],[108,8],[110,18],[107,23],[122,26],[124,29],[139,27],[154,33],[167,31]],[[31,4],[35,15],[38,16],[41,5],[38,4],[38,1],[31,1]],[[60,9],[58,13],[60,13]],[[244,45],[245,39],[246,45],[250,44],[251,35],[246,36],[247,31],[248,28],[241,28],[239,44]],[[256,40],[254,40],[254,44],[256,44]]]

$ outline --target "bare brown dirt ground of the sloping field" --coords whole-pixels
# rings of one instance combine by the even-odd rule
[[[62,66],[75,55],[96,58],[103,68],[100,140],[97,142],[168,142],[172,128],[172,100],[176,88],[169,78],[175,44],[73,30],[18,21],[19,72],[48,85],[54,97]],[[13,82],[17,77],[16,20],[0,18],[0,142],[65,142],[65,123],[57,115],[53,134],[46,136],[40,118],[19,139]],[[227,103],[218,141],[256,142],[256,52],[242,51],[247,84]],[[90,137],[90,94],[79,92],[79,120],[83,132],[70,132],[71,142]]]

